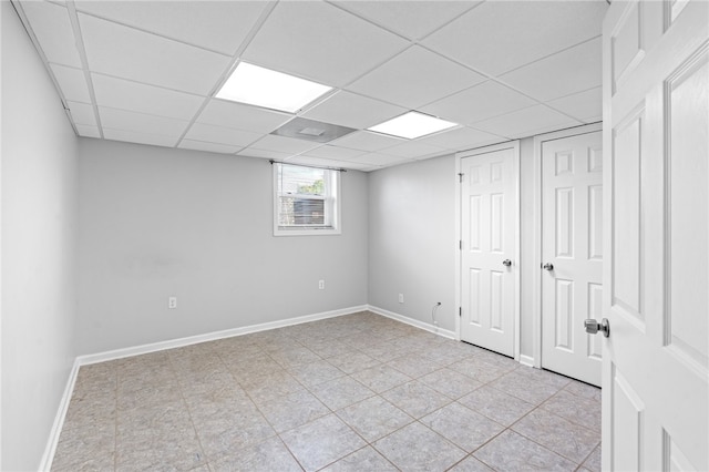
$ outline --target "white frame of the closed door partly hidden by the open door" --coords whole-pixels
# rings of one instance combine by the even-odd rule
[[[533,365],[542,368],[542,146],[547,141],[602,131],[602,123],[571,127],[534,136],[534,224],[535,252],[532,258],[532,356]]]

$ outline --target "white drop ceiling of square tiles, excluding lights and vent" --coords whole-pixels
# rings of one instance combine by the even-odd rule
[[[605,0],[13,3],[81,136],[373,171],[602,116]],[[240,60],[333,91],[296,114],[214,99]],[[410,110],[460,126],[363,131]],[[270,135],[296,116],[360,131]]]

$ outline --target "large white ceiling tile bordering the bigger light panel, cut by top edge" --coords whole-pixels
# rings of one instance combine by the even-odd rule
[[[325,2],[279,2],[244,60],[341,86],[403,50],[408,42]]]

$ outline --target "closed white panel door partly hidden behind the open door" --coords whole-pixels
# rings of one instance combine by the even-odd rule
[[[603,143],[599,131],[542,145],[542,367],[600,386]]]

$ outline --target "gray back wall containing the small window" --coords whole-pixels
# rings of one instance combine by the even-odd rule
[[[265,160],[79,150],[79,353],[367,304],[366,174],[342,174],[341,235],[274,237]]]

